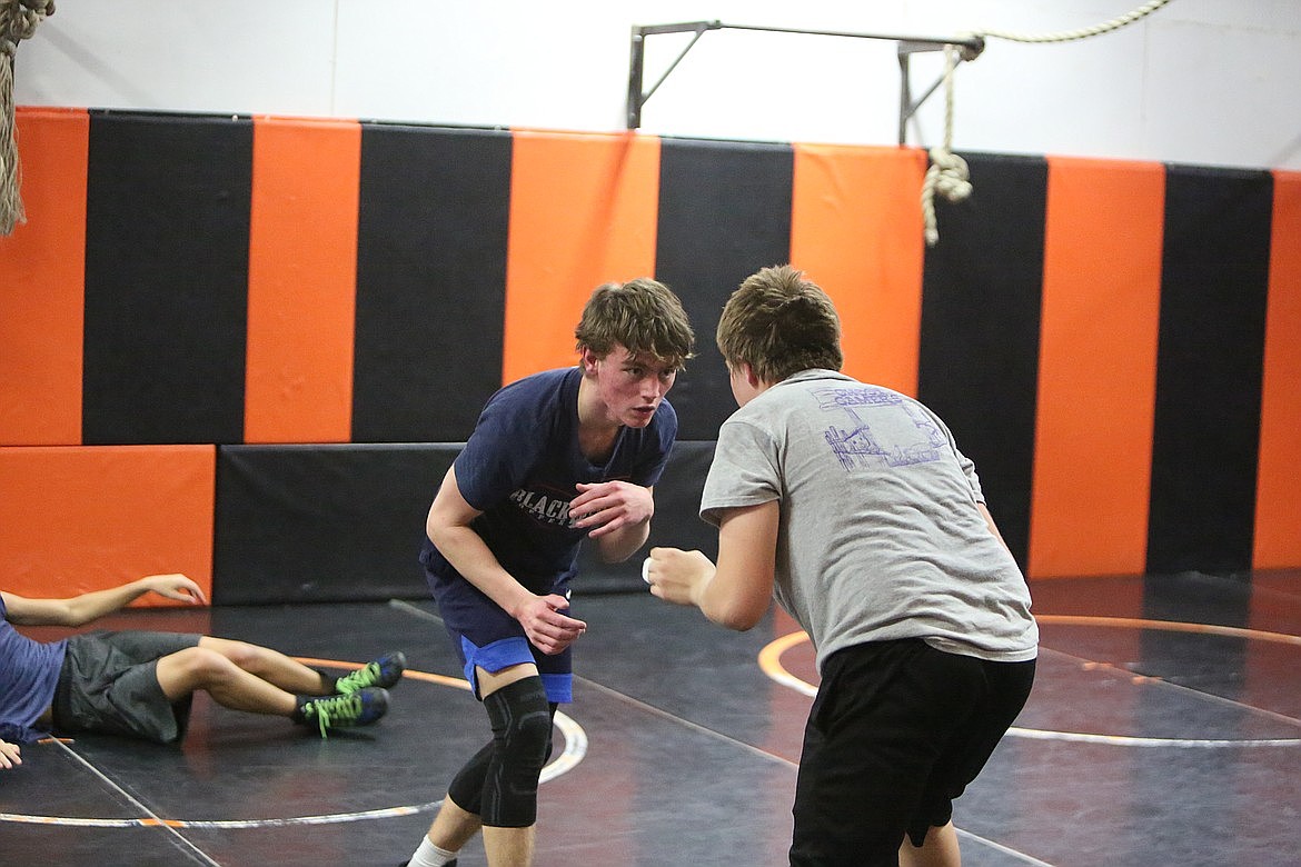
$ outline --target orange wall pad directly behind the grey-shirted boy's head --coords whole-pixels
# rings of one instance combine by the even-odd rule
[[[835,302],[844,372],[917,394],[924,240],[917,149],[795,146],[791,264]]]

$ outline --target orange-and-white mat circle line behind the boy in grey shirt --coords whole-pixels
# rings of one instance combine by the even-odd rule
[[[1180,623],[1176,620],[1145,620],[1138,617],[1097,617],[1082,615],[1036,615],[1039,623],[1056,623],[1072,627],[1115,627],[1128,629],[1160,629],[1166,632],[1188,632],[1210,636],[1227,636],[1232,638],[1252,638],[1255,641],[1271,641],[1275,643],[1301,646],[1301,637],[1289,636],[1280,632],[1265,632],[1261,629],[1241,629],[1237,627],[1216,627],[1205,623]],[[813,697],[817,695],[817,686],[801,680],[786,671],[782,664],[782,654],[791,647],[808,642],[808,633],[799,630],[787,633],[770,641],[758,651],[758,667],[769,679],[794,689],[798,693]],[[1089,732],[1054,732],[1050,729],[1021,728],[1013,725],[1007,729],[1008,734],[1041,741],[1075,741],[1084,744],[1111,744],[1118,746],[1177,746],[1177,747],[1206,747],[1206,746],[1298,746],[1301,738],[1254,738],[1254,740],[1222,740],[1222,738],[1170,738],[1170,737],[1131,737],[1124,734],[1093,734]]]

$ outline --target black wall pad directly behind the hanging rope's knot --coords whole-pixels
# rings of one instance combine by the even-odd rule
[[[965,159],[972,198],[935,203],[942,240],[926,251],[917,394],[976,461],[990,512],[1024,569],[1047,164]]]

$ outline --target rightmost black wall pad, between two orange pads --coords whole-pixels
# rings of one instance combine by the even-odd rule
[[[1272,204],[1267,172],[1166,172],[1149,573],[1252,568]]]

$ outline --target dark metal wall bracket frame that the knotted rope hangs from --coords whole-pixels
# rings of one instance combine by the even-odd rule
[[[926,99],[935,92],[935,88],[943,82],[943,77],[937,81],[926,94],[913,101],[908,84],[908,57],[916,52],[921,51],[943,51],[945,45],[955,45],[961,49],[963,60],[976,60],[982,51],[985,51],[985,40],[980,36],[900,36],[890,34],[870,34],[870,32],[846,32],[840,30],[798,30],[792,27],[762,27],[755,25],[727,25],[721,21],[687,21],[675,25],[634,25],[632,26],[632,47],[628,55],[628,129],[635,130],[641,126],[641,107],[645,105],[647,100],[660,88],[660,84],[669,78],[669,74],[678,68],[682,58],[687,56],[687,52],[695,47],[700,38],[710,30],[758,30],[766,32],[794,32],[803,34],[808,36],[843,36],[850,39],[886,39],[890,42],[899,43],[899,70],[903,77],[903,84],[900,87],[900,103],[899,103],[899,144],[904,143],[905,125],[909,117],[916,113]],[[643,71],[645,66],[645,39],[647,36],[656,36],[660,34],[671,32],[693,32],[695,38],[687,44],[686,48],[674,58],[665,70],[664,75],[650,87],[650,90],[643,92],[641,81]]]

